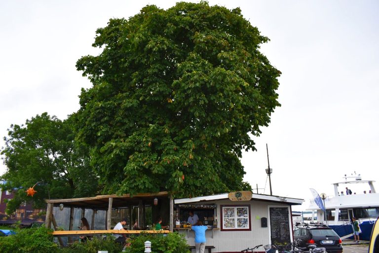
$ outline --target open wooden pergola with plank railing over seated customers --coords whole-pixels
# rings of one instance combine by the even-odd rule
[[[170,231],[156,231],[156,232],[172,232],[174,227],[174,199],[172,195],[167,191],[156,192],[156,193],[138,193],[135,195],[124,194],[124,195],[98,195],[95,197],[88,198],[73,198],[73,199],[49,199],[46,200],[47,210],[46,210],[46,219],[45,226],[47,228],[51,227],[51,223],[53,223],[54,229],[57,227],[55,218],[53,216],[53,207],[59,207],[63,205],[65,208],[70,208],[70,223],[68,231],[54,231],[53,235],[58,236],[74,236],[74,235],[93,235],[93,234],[104,234],[104,233],[117,233],[117,234],[130,234],[130,233],[140,233],[141,230],[112,230],[111,228],[111,216],[112,209],[122,209],[122,208],[131,208],[132,206],[139,207],[139,216],[145,217],[145,205],[153,204],[154,198],[157,198],[158,201],[166,202],[169,201],[169,225]],[[77,231],[73,230],[74,224],[74,209],[82,208],[84,209],[92,209],[92,210],[104,210],[107,212],[107,230],[87,230],[87,231]],[[129,219],[131,221],[131,212],[129,212]],[[92,216],[92,224],[94,219],[94,212]],[[139,225],[141,227],[145,227],[145,220],[139,220]],[[149,230],[148,230],[149,231]],[[146,231],[146,232],[148,232]],[[153,232],[153,231],[149,231]],[[61,240],[60,243],[62,244]]]

